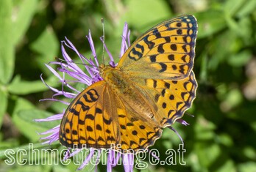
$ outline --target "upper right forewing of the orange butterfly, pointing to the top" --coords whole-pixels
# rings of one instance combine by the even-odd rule
[[[193,67],[196,34],[193,15],[166,20],[139,37],[124,53],[118,68],[139,78],[186,78]]]

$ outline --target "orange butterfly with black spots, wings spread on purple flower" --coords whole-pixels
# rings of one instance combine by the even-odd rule
[[[125,152],[152,146],[196,97],[196,34],[193,15],[166,20],[135,40],[116,67],[102,64],[103,81],[66,109],[60,143]]]

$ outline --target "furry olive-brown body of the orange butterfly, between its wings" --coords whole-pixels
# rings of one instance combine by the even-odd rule
[[[129,107],[128,111],[139,113],[149,119],[154,117],[154,112],[151,106],[148,105],[148,101],[135,88],[134,83],[132,83],[128,75],[117,67],[110,66],[103,67],[101,74],[104,81],[110,86],[110,89],[118,95],[121,101],[127,103]]]

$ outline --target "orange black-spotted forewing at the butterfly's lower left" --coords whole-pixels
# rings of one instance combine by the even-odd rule
[[[116,105],[105,81],[93,83],[71,102],[60,124],[60,143],[109,148],[120,141]]]

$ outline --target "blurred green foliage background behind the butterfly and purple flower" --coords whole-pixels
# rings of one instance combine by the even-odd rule
[[[174,124],[185,142],[186,165],[149,165],[143,171],[256,171],[256,1],[255,0],[1,0],[0,1],[0,171],[75,171],[77,165],[7,165],[6,149],[62,149],[40,145],[43,132],[59,124],[35,122],[63,112],[58,102],[39,102],[61,83],[44,64],[62,58],[60,41],[68,37],[91,58],[85,35],[92,32],[102,57],[105,43],[118,61],[124,22],[135,40],[163,20],[195,15],[198,24],[194,72],[199,88],[185,115],[189,126]],[[73,56],[74,53],[70,52]],[[75,58],[75,56],[74,56]],[[165,160],[181,141],[171,130],[152,148]],[[24,156],[26,157],[26,156]],[[43,157],[38,157],[43,158]],[[35,160],[35,159],[34,159]],[[99,171],[106,171],[100,166]],[[84,170],[86,171],[86,170]],[[123,171],[122,166],[114,171]],[[136,169],[134,171],[137,171]]]

